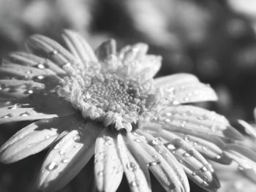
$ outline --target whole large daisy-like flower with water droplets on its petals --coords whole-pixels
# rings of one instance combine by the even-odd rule
[[[12,53],[0,67],[0,123],[33,121],[2,145],[1,162],[50,147],[42,190],[66,185],[94,155],[99,191],[116,191],[124,173],[131,191],[151,191],[148,169],[166,191],[189,191],[188,177],[216,191],[206,159],[248,157],[236,146],[226,154],[242,136],[222,115],[189,105],[217,99],[194,75],[153,80],[161,58],[146,54],[143,43],[116,52],[110,39],[94,53],[74,31],[62,36],[69,50],[34,35],[26,44],[31,53]]]

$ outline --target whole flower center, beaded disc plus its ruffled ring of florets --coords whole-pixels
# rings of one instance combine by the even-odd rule
[[[99,73],[92,77],[66,77],[56,92],[80,110],[83,118],[131,131],[154,104],[154,95],[148,94],[150,84]]]

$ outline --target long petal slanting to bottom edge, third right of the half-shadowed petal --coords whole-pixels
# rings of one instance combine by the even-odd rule
[[[165,188],[166,191],[187,191],[189,190],[188,185],[183,185],[181,182],[180,172],[177,174],[176,166],[172,166],[171,160],[173,158],[168,157],[168,161],[161,155],[162,153],[158,153],[157,150],[154,149],[151,145],[143,138],[138,138],[133,136],[132,134],[127,135],[127,143],[129,146],[129,150],[131,150],[132,154],[136,156],[136,158],[141,158],[144,161],[144,164],[147,164],[148,169],[154,174],[159,183]],[[182,177],[182,179],[184,179]],[[187,178],[185,177],[185,180]]]

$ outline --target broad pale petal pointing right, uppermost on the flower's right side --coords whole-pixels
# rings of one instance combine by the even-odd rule
[[[192,74],[173,74],[156,78],[154,87],[173,105],[217,100],[214,90]]]

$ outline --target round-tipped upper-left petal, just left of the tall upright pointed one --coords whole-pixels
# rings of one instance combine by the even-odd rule
[[[65,64],[78,65],[77,59],[69,51],[48,37],[33,35],[28,39],[26,45],[32,52],[43,55],[46,58],[50,57],[59,66],[64,66]]]

